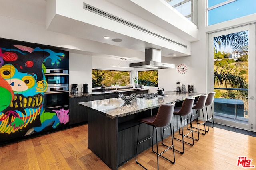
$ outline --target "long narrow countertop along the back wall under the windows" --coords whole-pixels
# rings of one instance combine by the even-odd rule
[[[105,92],[101,91],[94,91],[94,92],[88,92],[88,93],[78,93],[78,94],[69,94],[70,98],[76,98],[76,97],[83,97],[83,96],[93,96],[98,94],[111,94],[111,93],[122,93],[122,92],[128,92],[128,91],[138,91],[138,90],[148,90],[148,89],[119,89],[119,90],[106,90]]]

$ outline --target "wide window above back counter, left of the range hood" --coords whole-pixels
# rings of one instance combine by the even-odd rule
[[[120,82],[121,86],[130,84],[130,72],[92,69],[92,87],[100,87],[103,83],[106,87],[110,87],[116,82]]]

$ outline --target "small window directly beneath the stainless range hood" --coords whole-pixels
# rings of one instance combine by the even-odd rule
[[[158,87],[158,70],[138,71],[139,84]]]

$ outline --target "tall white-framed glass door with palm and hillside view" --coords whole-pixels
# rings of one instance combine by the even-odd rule
[[[210,33],[209,91],[216,123],[255,131],[255,25]]]

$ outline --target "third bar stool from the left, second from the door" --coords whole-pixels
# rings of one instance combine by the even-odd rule
[[[205,106],[206,98],[207,98],[207,95],[201,95],[201,96],[199,96],[198,101],[196,101],[196,102],[193,104],[193,109],[196,110],[196,114],[195,114],[195,115],[192,115],[192,113],[191,113],[191,115],[190,115],[190,120],[192,120],[192,117],[193,117],[193,116],[196,116],[197,128],[196,128],[196,127],[192,127],[191,129],[189,129],[189,128],[187,127],[188,130],[193,130],[193,128],[194,128],[194,129],[197,129],[197,131],[194,131],[194,130],[193,130],[194,132],[197,132],[197,133],[198,133],[198,139],[195,139],[196,141],[199,140],[199,133],[201,133],[201,134],[203,134],[203,135],[206,134],[205,121],[204,121],[204,123],[199,123],[199,122],[198,122],[198,111],[201,110],[201,109],[202,109],[203,119],[204,119],[204,110],[203,110],[203,108],[204,108],[204,106]],[[192,110],[192,111],[193,111],[193,110]],[[202,126],[202,125],[204,125],[204,129],[199,129],[199,127]],[[204,133],[199,132],[199,131],[204,131]]]

